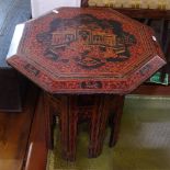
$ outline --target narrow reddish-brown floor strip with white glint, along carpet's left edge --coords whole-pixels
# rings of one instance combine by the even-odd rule
[[[45,170],[47,149],[45,145],[43,98],[39,94],[31,128],[25,170]]]

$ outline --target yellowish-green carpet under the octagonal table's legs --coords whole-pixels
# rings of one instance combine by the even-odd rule
[[[59,143],[48,154],[47,170],[170,170],[170,98],[129,95],[126,98],[120,140],[88,159],[88,134],[82,128],[78,138],[76,162],[59,157]],[[57,131],[56,131],[57,134]],[[58,146],[58,147],[57,147]]]

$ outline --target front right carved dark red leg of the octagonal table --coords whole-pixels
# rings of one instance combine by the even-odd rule
[[[105,127],[109,118],[109,97],[100,95],[95,98],[95,104],[91,115],[91,132],[89,157],[98,157],[103,148],[103,140],[105,137]]]

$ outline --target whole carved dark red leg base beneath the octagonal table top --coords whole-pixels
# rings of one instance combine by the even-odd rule
[[[81,98],[86,98],[82,95]],[[52,100],[53,99],[53,100]],[[46,139],[47,147],[53,147],[53,115],[50,114],[50,106],[54,106],[59,112],[60,125],[60,141],[61,155],[65,160],[73,161],[76,159],[76,139],[78,128],[79,105],[77,95],[60,95],[57,98],[52,97],[50,102],[44,95],[44,107],[46,117]],[[115,111],[112,118],[112,133],[110,138],[110,146],[113,146],[117,140],[121,115],[123,111],[124,97],[121,95],[93,95],[92,105],[90,107],[84,103],[84,113],[88,112],[88,120],[91,122],[90,126],[90,145],[89,157],[98,157],[103,148],[103,140],[105,137],[105,128],[111,109]],[[87,101],[87,98],[86,98]],[[90,109],[90,111],[87,109]],[[87,110],[86,110],[87,109]],[[82,116],[82,115],[81,115]]]

